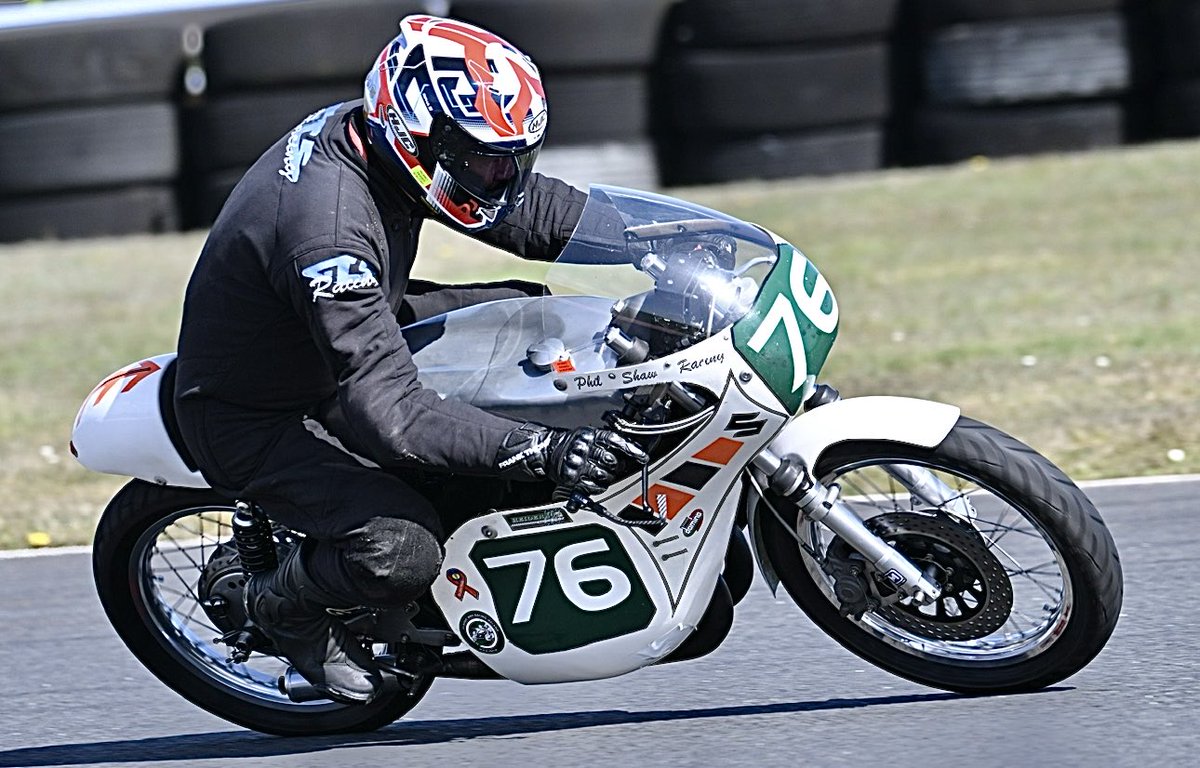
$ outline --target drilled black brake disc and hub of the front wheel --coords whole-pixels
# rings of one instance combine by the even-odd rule
[[[985,637],[1004,625],[1013,610],[1013,586],[1004,566],[978,532],[944,515],[892,512],[866,527],[907,557],[942,588],[937,600],[918,605],[910,598],[875,610],[881,618],[913,635],[940,641]],[[829,557],[848,547],[829,544]],[[886,582],[882,590],[889,590]],[[894,594],[894,593],[893,593]]]

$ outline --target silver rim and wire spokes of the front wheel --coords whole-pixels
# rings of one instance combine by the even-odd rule
[[[1028,659],[1052,646],[1066,629],[1074,595],[1066,562],[1037,521],[985,481],[960,470],[925,467],[954,491],[954,498],[938,508],[916,499],[904,486],[886,474],[880,464],[907,463],[874,458],[838,468],[822,481],[836,482],[841,499],[866,520],[896,512],[941,512],[971,524],[985,547],[1003,565],[1013,588],[1013,607],[1008,619],[994,632],[973,640],[938,640],[919,635],[892,622],[884,613],[869,612],[853,620],[865,632],[905,653],[941,661],[1008,661]],[[974,520],[961,515],[967,499],[977,514]],[[835,607],[833,578],[826,574],[808,550],[826,552],[834,535],[815,522],[802,522],[798,538],[804,545],[802,559],[809,576]],[[905,601],[906,604],[910,601]],[[916,606],[908,606],[912,612]]]

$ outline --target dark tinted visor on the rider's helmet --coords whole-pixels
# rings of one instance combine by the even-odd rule
[[[486,205],[506,205],[516,200],[533,172],[538,149],[510,151],[486,146],[449,120],[433,130],[433,154],[438,163]]]

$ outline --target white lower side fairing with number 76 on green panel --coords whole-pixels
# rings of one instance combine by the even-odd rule
[[[704,614],[737,518],[742,470],[786,415],[718,362],[736,358],[727,335],[688,354],[713,360],[690,373],[724,392],[710,419],[649,468],[649,505],[668,520],[665,528],[547,505],[474,518],[446,541],[433,598],[502,676],[560,683],[624,674],[670,654]],[[664,361],[673,371],[679,360],[656,361],[660,373]],[[634,475],[596,502],[620,514],[641,497]]]

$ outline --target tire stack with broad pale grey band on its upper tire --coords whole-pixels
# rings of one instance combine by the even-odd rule
[[[922,0],[906,160],[1120,144],[1133,65],[1121,0]]]

